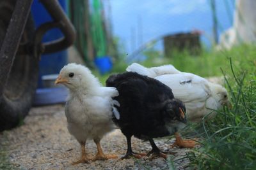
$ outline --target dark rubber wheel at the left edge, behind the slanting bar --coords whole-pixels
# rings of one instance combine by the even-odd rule
[[[15,3],[15,0],[0,2],[0,46]],[[31,42],[34,32],[33,19],[29,16],[20,44]],[[28,115],[38,81],[38,67],[38,59],[33,55],[16,54],[0,101],[0,131],[17,126]]]

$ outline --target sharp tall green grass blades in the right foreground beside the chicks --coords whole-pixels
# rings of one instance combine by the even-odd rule
[[[189,154],[196,169],[255,169],[256,83],[255,66],[240,71],[232,67],[227,80],[232,110],[220,111],[211,122],[203,122],[203,147]],[[242,64],[241,64],[242,65]]]

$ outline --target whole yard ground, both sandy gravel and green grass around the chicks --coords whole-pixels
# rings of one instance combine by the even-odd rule
[[[149,53],[149,55],[148,55]],[[232,109],[221,110],[216,118],[189,124],[183,136],[199,139],[202,147],[193,150],[170,149],[177,152],[168,160],[108,160],[70,166],[79,157],[79,145],[67,132],[63,105],[33,108],[20,127],[0,134],[0,169],[253,169],[256,167],[256,50],[253,45],[241,45],[230,51],[203,52],[199,56],[177,53],[173,58],[157,57],[148,52],[145,66],[173,64],[180,71],[203,77],[224,76]],[[116,62],[113,73],[125,71],[127,64]],[[95,74],[97,74],[95,72]],[[109,75],[97,76],[104,84]],[[148,143],[133,139],[136,150],[148,151]],[[163,150],[173,142],[157,140]],[[106,152],[119,157],[125,153],[125,138],[120,131],[102,140]],[[92,142],[90,152],[95,152]],[[190,164],[188,166],[188,160]]]

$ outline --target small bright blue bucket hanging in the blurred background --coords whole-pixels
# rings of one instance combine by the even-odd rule
[[[97,69],[99,69],[100,74],[108,73],[109,71],[111,71],[113,67],[113,63],[109,56],[96,57],[94,59],[94,64],[97,67]]]

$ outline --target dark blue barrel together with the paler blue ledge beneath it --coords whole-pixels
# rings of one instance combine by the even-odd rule
[[[64,11],[67,11],[66,0],[58,0]],[[33,1],[31,13],[36,28],[45,22],[51,22],[51,15],[45,10],[39,0]],[[53,41],[63,37],[60,29],[51,29],[47,31],[42,42]],[[34,105],[63,103],[67,98],[67,89],[64,87],[44,88],[42,76],[49,74],[58,74],[60,69],[67,64],[67,50],[61,52],[41,55],[39,62],[38,89],[36,90]]]

